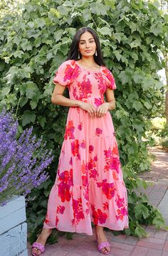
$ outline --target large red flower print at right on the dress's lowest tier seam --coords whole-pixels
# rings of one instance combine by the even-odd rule
[[[107,199],[112,199],[115,196],[115,185],[114,183],[107,183],[107,179],[103,179],[103,182],[97,182],[98,187],[102,187],[103,195],[107,197]]]

